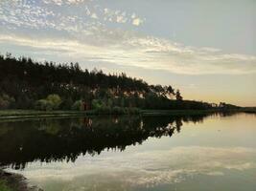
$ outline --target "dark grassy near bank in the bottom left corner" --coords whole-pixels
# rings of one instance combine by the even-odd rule
[[[26,179],[18,174],[8,173],[0,169],[1,191],[43,191],[35,186],[30,187]]]

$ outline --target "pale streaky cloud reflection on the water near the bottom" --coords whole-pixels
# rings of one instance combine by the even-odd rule
[[[40,185],[72,181],[78,186],[91,186],[92,182],[99,185],[117,182],[128,187],[155,186],[181,182],[197,175],[224,176],[227,170],[255,169],[255,159],[256,150],[244,147],[176,147],[168,151],[123,155],[104,153],[94,158],[81,157],[75,163],[52,162],[42,166],[33,163],[23,174]]]

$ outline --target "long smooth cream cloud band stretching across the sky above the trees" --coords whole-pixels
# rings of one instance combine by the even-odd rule
[[[97,40],[93,40],[96,39]],[[1,43],[40,49],[52,49],[74,59],[104,61],[175,74],[255,74],[256,57],[221,53],[205,48],[187,47],[174,42],[133,32],[91,29],[73,39],[32,39],[1,35]]]

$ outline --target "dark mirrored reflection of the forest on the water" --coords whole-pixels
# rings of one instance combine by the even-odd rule
[[[29,161],[75,161],[104,149],[124,151],[149,137],[172,137],[182,121],[200,117],[85,117],[7,122],[0,135],[0,165],[24,168]],[[1,124],[1,126],[3,125]]]

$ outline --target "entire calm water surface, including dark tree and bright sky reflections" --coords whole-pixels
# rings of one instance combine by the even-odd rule
[[[0,122],[0,165],[45,191],[255,191],[256,116]]]

